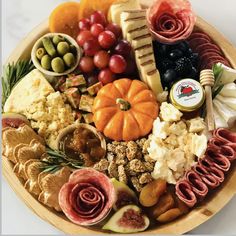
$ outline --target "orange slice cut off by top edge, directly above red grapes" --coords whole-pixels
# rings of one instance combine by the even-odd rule
[[[107,16],[110,6],[116,1],[117,0],[81,0],[79,19],[89,17],[94,11],[102,11],[105,16]]]

